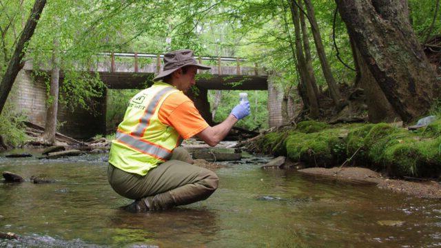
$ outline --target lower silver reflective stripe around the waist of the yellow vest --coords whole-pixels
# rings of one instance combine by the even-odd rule
[[[162,158],[163,160],[167,160],[167,158],[172,155],[172,152],[165,148],[146,143],[145,141],[141,141],[138,137],[130,136],[129,134],[124,134],[122,132],[116,132],[116,140],[130,145],[131,147],[138,149],[140,152],[157,158]]]

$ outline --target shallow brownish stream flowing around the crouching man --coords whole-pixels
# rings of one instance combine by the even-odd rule
[[[0,172],[56,183],[0,183],[0,232],[20,236],[0,247],[441,246],[439,200],[267,171],[262,159],[218,169],[219,188],[203,202],[130,214],[118,207],[131,201],[107,184],[107,154],[51,161],[5,154]]]

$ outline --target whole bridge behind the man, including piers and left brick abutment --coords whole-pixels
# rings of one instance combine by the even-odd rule
[[[198,96],[189,93],[189,97],[205,120],[212,124],[207,90],[269,90],[268,76],[263,68],[246,59],[234,57],[196,56],[199,63],[210,66],[211,70],[201,70],[196,76]],[[163,69],[162,54],[116,53],[97,54],[90,68],[79,68],[90,73],[98,73],[108,89],[142,89],[151,85],[154,74]],[[19,87],[14,101],[22,110],[29,113],[30,121],[44,125],[45,121],[45,85],[42,78],[34,79],[30,73],[34,70],[33,61],[28,60],[17,78],[15,87]],[[39,66],[43,72],[50,71],[50,65]],[[63,73],[60,75],[63,83]],[[107,92],[107,91],[106,91]],[[70,113],[65,106],[59,107],[59,121],[65,122],[61,132],[76,138],[87,138],[97,133],[105,133],[105,112],[107,94],[96,99],[94,109],[97,115],[84,110]],[[269,102],[271,101],[269,96]],[[32,99],[29,103],[29,99]],[[278,101],[278,100],[274,100]],[[87,120],[87,121],[85,121]],[[108,127],[107,127],[108,129]]]

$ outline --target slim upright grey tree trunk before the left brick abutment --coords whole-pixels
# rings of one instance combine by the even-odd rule
[[[47,145],[54,144],[55,133],[57,132],[58,92],[60,79],[59,43],[59,38],[54,37],[54,48],[52,50],[52,70],[50,72],[48,110],[46,112],[46,125],[43,133],[43,143]]]

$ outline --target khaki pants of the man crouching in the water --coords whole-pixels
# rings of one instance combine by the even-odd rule
[[[167,209],[207,199],[218,187],[218,176],[192,163],[189,153],[177,147],[169,161],[140,176],[109,163],[107,178],[121,196],[144,200],[149,209]]]

